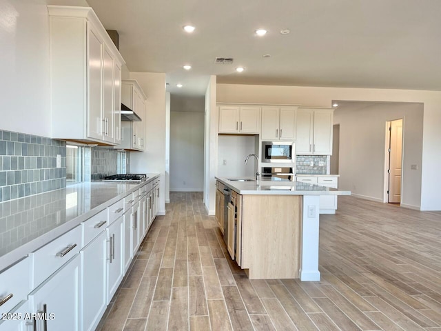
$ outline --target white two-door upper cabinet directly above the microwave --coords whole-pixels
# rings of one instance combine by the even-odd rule
[[[262,140],[295,140],[297,107],[262,108]]]

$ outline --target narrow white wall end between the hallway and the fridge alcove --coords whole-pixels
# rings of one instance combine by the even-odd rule
[[[211,76],[205,92],[204,136],[204,203],[209,215],[216,208],[216,180],[218,160],[218,110],[216,108],[216,76]]]

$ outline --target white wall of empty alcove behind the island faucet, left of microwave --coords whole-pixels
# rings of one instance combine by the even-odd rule
[[[256,139],[258,141],[258,136],[220,135],[218,137],[218,176],[254,177],[256,159],[252,157],[245,164],[245,158],[249,154],[258,154]],[[260,172],[260,169],[258,171]]]

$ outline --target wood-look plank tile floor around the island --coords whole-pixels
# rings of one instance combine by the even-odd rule
[[[98,330],[441,330],[441,212],[339,197],[321,281],[250,281],[202,194],[170,198]]]

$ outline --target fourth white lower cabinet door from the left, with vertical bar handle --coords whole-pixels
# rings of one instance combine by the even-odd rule
[[[107,234],[107,279],[106,279],[106,303],[114,296],[119,284],[123,280],[123,217],[116,219],[106,230]]]

